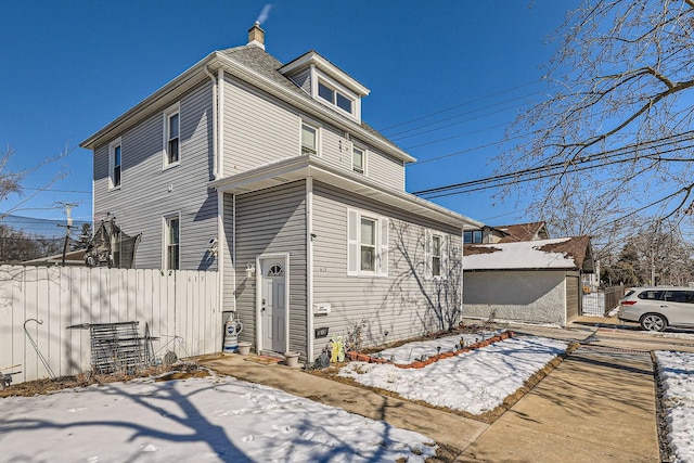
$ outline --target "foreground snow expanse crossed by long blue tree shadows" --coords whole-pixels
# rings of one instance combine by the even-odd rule
[[[94,385],[0,399],[2,461],[423,461],[434,442],[231,377]]]

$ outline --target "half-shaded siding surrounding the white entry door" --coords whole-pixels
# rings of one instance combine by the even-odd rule
[[[306,184],[304,181],[236,196],[236,307],[243,340],[255,345],[256,282],[246,263],[261,254],[290,253],[290,349],[307,351]]]

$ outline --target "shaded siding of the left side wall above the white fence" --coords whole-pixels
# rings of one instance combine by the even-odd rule
[[[156,269],[163,265],[163,217],[180,214],[181,269],[216,270],[216,258],[207,252],[209,240],[217,235],[217,193],[207,189],[211,180],[210,83],[200,85],[179,102],[180,165],[163,168],[164,115],[153,113],[120,134],[120,189],[108,191],[108,144],[94,150],[94,214],[111,213],[124,232],[142,233],[136,266]]]

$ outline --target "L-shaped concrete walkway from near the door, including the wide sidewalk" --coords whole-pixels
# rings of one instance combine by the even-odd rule
[[[593,335],[603,344],[592,326],[514,330],[566,340]],[[203,364],[419,432],[450,449],[458,462],[659,461],[650,353],[597,349],[576,350],[492,425],[235,355]]]

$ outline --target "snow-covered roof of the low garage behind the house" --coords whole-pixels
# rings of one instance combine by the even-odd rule
[[[463,270],[582,270],[593,272],[590,236],[465,245]]]

